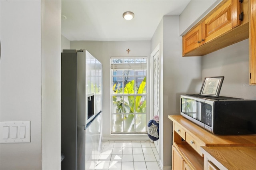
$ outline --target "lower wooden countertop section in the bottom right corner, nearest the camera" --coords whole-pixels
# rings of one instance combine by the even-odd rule
[[[201,150],[206,157],[212,156],[228,170],[256,169],[256,146],[202,146]]]

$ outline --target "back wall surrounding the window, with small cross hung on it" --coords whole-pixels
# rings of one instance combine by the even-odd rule
[[[127,54],[127,49],[130,54]],[[110,57],[150,57],[150,41],[71,41],[70,49],[86,49],[103,67],[103,139],[149,140],[148,135],[112,135],[110,138]],[[149,60],[148,60],[149,62]],[[148,81],[149,82],[149,81]],[[111,85],[111,87],[110,87]],[[150,101],[150,99],[148,99]]]

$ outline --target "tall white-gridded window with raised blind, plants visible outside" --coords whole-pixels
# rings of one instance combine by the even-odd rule
[[[147,57],[111,57],[111,133],[146,133]]]

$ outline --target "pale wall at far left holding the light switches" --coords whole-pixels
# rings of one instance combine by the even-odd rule
[[[0,169],[58,170],[61,2],[0,8],[0,121],[31,121],[30,143],[0,144]]]

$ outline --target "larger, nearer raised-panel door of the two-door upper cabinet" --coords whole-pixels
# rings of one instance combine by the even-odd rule
[[[241,24],[238,0],[228,0],[202,22],[202,43],[207,43]],[[220,42],[221,43],[221,42]]]

